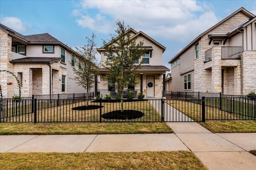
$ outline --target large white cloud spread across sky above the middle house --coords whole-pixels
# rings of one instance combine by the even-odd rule
[[[116,20],[124,20],[136,31],[152,37],[191,41],[218,22],[218,18],[205,3],[197,1],[81,1],[76,22],[93,31],[110,33]],[[89,16],[88,11],[98,14]],[[74,12],[73,12],[74,13]],[[210,18],[210,19],[209,19]]]

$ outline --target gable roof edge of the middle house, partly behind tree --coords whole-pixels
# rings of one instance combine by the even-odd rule
[[[130,28],[128,29],[125,33],[127,33],[128,31],[131,31],[132,33],[134,33],[135,35],[133,35],[130,39],[135,39],[138,36],[143,36],[144,38],[148,39],[150,42],[154,43],[155,45],[157,45],[158,47],[160,47],[163,50],[163,53],[166,49],[166,47],[164,47],[163,45],[161,45],[160,43],[158,43],[157,41],[155,41],[154,39],[152,39],[151,37],[149,37],[148,35],[146,35],[145,33],[143,33],[142,31],[137,32],[134,29]],[[117,37],[116,37],[117,38]],[[108,42],[107,44],[111,44],[112,41]],[[104,51],[105,49],[105,45],[103,45],[102,47],[98,48],[97,51],[100,53],[101,51]]]

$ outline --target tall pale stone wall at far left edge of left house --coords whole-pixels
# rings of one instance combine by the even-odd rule
[[[0,29],[0,70],[13,72],[12,60],[12,37]],[[8,72],[0,72],[0,85],[4,98],[11,98],[14,95],[14,80],[16,79]]]

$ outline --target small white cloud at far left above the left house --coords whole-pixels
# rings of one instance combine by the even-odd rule
[[[25,23],[22,23],[22,21],[16,17],[1,16],[1,23],[17,32],[24,32],[28,28],[28,25],[26,25]]]

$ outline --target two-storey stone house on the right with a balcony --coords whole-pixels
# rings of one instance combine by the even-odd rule
[[[256,91],[256,17],[240,8],[188,44],[172,60],[170,91]]]

